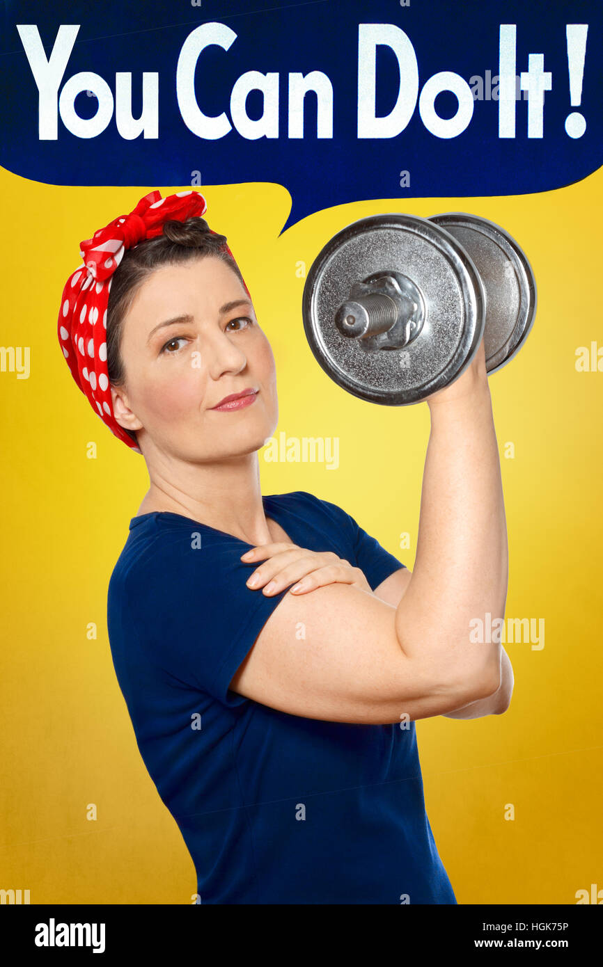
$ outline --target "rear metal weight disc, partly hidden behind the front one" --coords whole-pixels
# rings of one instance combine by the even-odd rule
[[[519,351],[534,320],[536,282],[528,258],[494,221],[464,212],[446,212],[430,221],[458,239],[484,283],[486,368],[494,372]]]

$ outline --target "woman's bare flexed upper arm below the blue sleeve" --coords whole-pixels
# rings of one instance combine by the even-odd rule
[[[230,689],[289,715],[365,724],[429,718],[476,697],[469,686],[460,696],[437,659],[407,658],[395,613],[375,594],[345,584],[286,595]]]

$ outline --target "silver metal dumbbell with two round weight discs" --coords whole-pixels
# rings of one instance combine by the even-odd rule
[[[359,219],[326,243],[302,299],[317,362],[375,403],[416,403],[461,375],[484,337],[489,373],[524,344],[536,283],[494,221],[463,212]]]

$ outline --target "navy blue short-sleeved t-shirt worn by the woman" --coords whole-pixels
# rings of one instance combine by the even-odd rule
[[[335,504],[303,490],[262,501],[292,542],[335,551],[372,590],[405,567]],[[414,722],[301,718],[229,689],[288,593],[247,587],[250,546],[179,513],[143,513],[108,586],[117,680],[200,902],[456,903]]]

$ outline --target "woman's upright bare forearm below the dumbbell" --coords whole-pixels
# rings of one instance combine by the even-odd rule
[[[430,402],[417,553],[396,633],[407,657],[431,661],[442,685],[467,685],[470,696],[480,682],[500,685],[500,644],[480,628],[488,613],[504,616],[508,547],[485,364],[461,378],[457,394]]]

